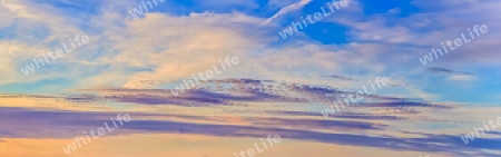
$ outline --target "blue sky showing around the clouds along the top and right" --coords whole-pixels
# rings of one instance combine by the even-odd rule
[[[51,8],[50,12],[58,13],[58,14],[68,14],[68,16],[61,16],[61,18],[72,21],[70,26],[80,29],[82,31],[86,31],[88,33],[91,33],[94,36],[105,33],[107,30],[106,28],[101,26],[95,26],[91,24],[95,17],[99,17],[104,12],[107,11],[128,11],[131,10],[134,7],[137,7],[140,4],[140,2],[134,2],[134,1],[127,1],[127,2],[120,2],[120,4],[111,4],[102,1],[58,1],[58,0],[51,0],[51,1],[28,1],[32,4],[40,4],[40,6],[47,6],[48,8]],[[312,1],[307,4],[289,11],[287,13],[281,14],[278,18],[273,20],[273,23],[271,26],[266,26],[264,28],[258,29],[252,29],[246,27],[252,26],[242,26],[245,29],[250,29],[248,31],[257,31],[259,32],[259,38],[276,38],[277,32],[284,29],[285,27],[289,26],[293,21],[298,21],[299,17],[306,16],[306,14],[313,14],[314,12],[318,12],[321,7],[325,7],[328,1]],[[283,7],[293,4],[295,1],[246,1],[246,2],[204,2],[204,1],[166,1],[161,3],[158,7],[155,7],[148,11],[148,13],[167,13],[171,16],[189,16],[189,13],[232,13],[232,12],[238,12],[246,14],[248,17],[254,18],[261,18],[265,19],[267,17],[273,16],[274,13],[277,13]],[[118,6],[128,7],[126,8],[119,8]],[[436,100],[451,100],[451,101],[470,101],[470,102],[495,102],[499,100],[499,96],[492,96],[497,94],[492,94],[491,90],[489,90],[491,87],[499,87],[500,84],[498,81],[494,81],[490,78],[498,78],[495,73],[499,72],[484,72],[484,69],[497,69],[495,66],[492,66],[490,63],[485,63],[481,60],[481,58],[489,58],[488,56],[481,56],[478,57],[477,61],[479,62],[471,62],[468,66],[463,66],[466,63],[455,63],[455,60],[461,61],[461,58],[458,56],[468,56],[468,48],[463,48],[463,50],[458,50],[460,55],[448,55],[440,60],[433,62],[433,65],[426,65],[426,66],[420,66],[420,62],[418,61],[410,61],[409,66],[403,66],[404,62],[407,62],[407,59],[396,59],[396,60],[387,60],[385,57],[402,55],[402,56],[413,56],[414,60],[419,55],[425,55],[426,51],[430,51],[431,48],[439,47],[440,40],[446,40],[446,39],[454,39],[455,37],[459,37],[460,33],[465,32],[466,30],[464,28],[473,27],[473,24],[478,24],[480,19],[482,18],[471,18],[471,19],[458,19],[458,21],[462,21],[461,26],[454,26],[451,27],[444,27],[448,23],[440,22],[440,18],[445,18],[445,13],[441,12],[450,12],[453,10],[458,10],[455,7],[460,6],[468,6],[468,3],[452,3],[448,6],[433,6],[430,7],[426,1],[385,1],[385,2],[373,2],[373,1],[356,1],[356,3],[352,3],[347,9],[344,11],[335,12],[331,17],[323,19],[318,21],[315,24],[311,24],[307,29],[301,30],[299,36],[293,36],[285,40],[273,40],[268,43],[263,43],[263,46],[271,47],[271,48],[281,48],[281,47],[291,47],[296,45],[297,42],[310,42],[315,43],[318,46],[323,46],[324,48],[328,49],[330,47],[335,48],[340,46],[345,46],[350,43],[364,43],[364,45],[379,45],[379,46],[387,46],[391,45],[391,48],[381,50],[382,53],[385,53],[383,56],[379,56],[379,58],[375,58],[374,60],[366,60],[366,61],[373,61],[373,62],[384,62],[381,65],[391,67],[392,65],[400,65],[400,68],[386,68],[382,75],[389,75],[389,73],[395,73],[399,71],[405,71],[406,69],[420,69],[419,76],[415,76],[418,73],[401,73],[402,76],[399,77],[407,77],[406,79],[409,81],[415,81],[422,84],[421,87],[423,87],[423,90],[426,89],[426,92],[433,92],[434,95],[439,95],[443,98],[436,99]],[[472,9],[473,10],[473,9]],[[474,13],[485,13],[489,11],[483,12],[474,12]],[[463,12],[460,12],[463,13]],[[71,14],[71,16],[69,16]],[[425,16],[434,18],[425,19]],[[464,12],[463,14],[473,14],[469,12]],[[489,13],[488,13],[489,14]],[[127,13],[120,14],[126,20],[131,20],[130,17],[127,17]],[[459,16],[459,14],[458,14]],[[473,17],[473,16],[469,16]],[[478,17],[484,17],[484,16],[478,16]],[[144,17],[143,17],[144,18]],[[350,19],[351,21],[340,22],[336,20],[340,19]],[[124,22],[126,21],[117,21],[111,22],[115,24],[114,27],[124,27]],[[422,20],[422,21],[419,21]],[[483,23],[485,22],[494,22],[493,19],[485,19]],[[425,27],[414,27],[412,24],[421,23],[421,22],[429,22]],[[32,23],[40,24],[40,27],[33,27]],[[372,24],[374,28],[357,28],[352,24]],[[466,24],[468,23],[468,24]],[[28,29],[19,30],[19,28],[22,27],[29,27]],[[495,24],[495,23],[493,23]],[[391,42],[387,40],[372,40],[369,37],[361,37],[364,36],[362,33],[370,35],[371,31],[377,30],[379,28],[385,29],[384,31],[403,31],[405,32],[403,36],[409,36],[409,38],[413,38],[414,40],[419,40],[420,37],[428,37],[431,38],[433,33],[441,33],[441,37],[433,38],[435,42],[433,41],[412,41],[407,39],[406,41],[402,42]],[[4,38],[11,39],[11,40],[23,40],[23,41],[31,41],[31,42],[41,42],[46,46],[57,47],[60,45],[60,41],[58,40],[48,40],[47,38],[50,36],[50,28],[48,26],[43,24],[41,21],[36,20],[16,20],[12,19],[11,22],[8,22],[6,27],[2,28],[2,36]],[[16,31],[18,30],[18,35],[16,35]],[[28,32],[27,32],[28,31]],[[364,32],[365,31],[365,32]],[[390,32],[381,32],[381,33],[390,33]],[[369,33],[367,33],[369,32]],[[36,39],[27,39],[27,37],[23,37],[22,33],[30,33],[32,36],[31,38]],[[374,32],[376,33],[376,32]],[[396,32],[397,33],[397,32]],[[397,35],[387,35],[389,37],[385,38],[396,38]],[[374,36],[374,35],[371,35]],[[376,35],[376,36],[385,36],[385,35]],[[485,38],[493,38],[495,37],[493,33],[485,35],[488,37]],[[383,37],[384,38],[384,37]],[[483,37],[482,37],[483,38]],[[488,40],[483,38],[483,40]],[[106,42],[106,37],[102,39],[99,39],[99,42]],[[418,43],[415,43],[418,42]],[[474,41],[474,42],[481,42],[481,41]],[[99,48],[102,47],[102,48]],[[466,47],[466,46],[465,46]],[[474,47],[474,46],[469,46]],[[94,55],[84,56],[79,55],[80,57],[86,57],[88,60],[96,60],[99,58],[104,51],[110,51],[110,49],[107,49],[104,46],[96,46],[95,49],[92,49]],[[454,57],[456,56],[456,57]],[[493,55],[495,56],[495,55]],[[21,59],[21,58],[19,58]],[[27,59],[24,59],[27,60]],[[410,59],[409,59],[410,60]],[[468,60],[463,60],[468,61]],[[22,62],[20,60],[19,62]],[[22,65],[28,63],[28,61],[24,61],[23,63],[18,63],[17,69],[19,67],[22,67]],[[70,65],[68,65],[70,66]],[[99,70],[86,70],[85,67],[79,67],[79,65],[73,65],[77,67],[78,70],[82,71],[84,77],[89,77],[92,75],[98,75],[105,71]],[[109,67],[106,65],[101,65],[100,67]],[[446,78],[446,73],[444,75],[431,75],[426,68],[429,67],[442,67],[445,69],[454,69],[459,71],[469,71],[473,73],[469,78],[474,78],[475,80],[469,80],[469,81],[454,81],[451,82]],[[479,68],[475,68],[479,67]],[[97,67],[94,67],[97,68]],[[131,69],[141,69],[145,67],[130,67]],[[53,67],[53,66],[47,66],[42,70],[69,70],[68,68],[63,67]],[[104,68],[106,69],[106,68]],[[370,69],[366,68],[348,68],[343,71],[338,71],[336,75],[366,75],[363,71],[370,71]],[[134,70],[132,70],[134,71]],[[325,71],[327,72],[327,71]],[[352,73],[353,72],[353,73]],[[360,73],[362,72],[362,73]],[[335,72],[333,72],[335,73]],[[411,77],[412,76],[412,77]],[[421,78],[420,78],[421,77]],[[59,77],[59,78],[52,78],[52,79],[41,79],[41,80],[31,80],[30,84],[35,84],[38,86],[35,86],[32,88],[43,88],[45,82],[53,79],[61,79],[67,80],[69,84],[63,84],[61,86],[65,86],[66,88],[75,87],[75,81],[71,81],[68,78]],[[449,82],[444,86],[440,86],[443,84],[440,82]],[[464,84],[473,84],[471,86],[464,87]],[[9,92],[9,91],[21,91],[21,92],[37,92],[37,91],[43,91],[43,90],[33,90],[28,88],[21,88],[22,85],[17,82],[10,82],[7,85],[3,85],[0,87],[1,91]],[[17,90],[12,90],[12,88],[18,88]],[[21,90],[19,90],[21,89]],[[23,91],[22,91],[23,90]],[[449,95],[450,91],[466,91],[466,92],[456,92],[454,95]],[[474,92],[470,92],[474,91]],[[464,96],[470,96],[471,94],[475,94],[475,100],[465,100]]]

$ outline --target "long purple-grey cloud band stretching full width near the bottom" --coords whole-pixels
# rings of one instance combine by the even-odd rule
[[[2,129],[1,138],[71,138],[84,136],[81,130],[89,128],[97,129],[104,127],[104,121],[109,117],[115,117],[117,112],[62,112],[62,111],[36,111],[20,108],[0,108],[1,118],[11,118],[9,121],[0,121],[2,126],[13,126]],[[386,130],[387,125],[376,122],[348,121],[348,120],[315,120],[315,119],[285,119],[269,117],[247,117],[240,118],[244,124],[216,124],[217,120],[230,117],[177,117],[175,115],[137,115],[130,114],[132,120],[124,124],[118,129],[107,136],[130,135],[140,133],[168,133],[168,134],[196,134],[213,137],[266,137],[269,134],[279,135],[282,138],[296,140],[312,140],[324,144],[350,145],[357,147],[372,147],[382,149],[399,149],[412,151],[432,151],[440,154],[452,154],[464,156],[469,154],[494,155],[478,149],[474,144],[464,145],[456,136],[444,134],[428,134],[407,131],[405,135],[421,135],[420,137],[399,137],[387,133],[377,134],[377,130]],[[156,119],[151,116],[155,116]],[[148,118],[149,117],[149,118]],[[166,120],[160,120],[158,118]],[[181,118],[179,120],[173,120]],[[205,119],[205,122],[195,122],[194,119]],[[208,120],[208,121],[207,121]],[[24,125],[14,125],[18,122]],[[235,122],[235,121],[234,121]],[[53,126],[53,124],[58,124]],[[259,125],[259,127],[255,126]],[[51,126],[51,127],[48,127]],[[277,127],[279,126],[279,127]],[[38,128],[36,134],[31,128]],[[335,129],[335,131],[323,131]],[[355,134],[371,130],[372,134]],[[384,131],[382,130],[382,131]],[[350,131],[350,133],[346,133]],[[245,133],[245,134],[242,134]],[[366,143],[379,141],[379,143]],[[499,139],[478,138],[475,143],[489,144],[482,147],[488,150],[500,148]],[[454,151],[450,151],[453,148]]]

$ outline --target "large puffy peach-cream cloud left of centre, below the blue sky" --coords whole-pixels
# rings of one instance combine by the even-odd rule
[[[126,22],[125,28],[110,31],[108,42],[119,53],[107,52],[96,60],[111,66],[110,69],[115,69],[111,76],[120,76],[121,82],[126,82],[118,85],[116,79],[106,73],[84,81],[100,80],[101,84],[115,82],[124,88],[150,88],[193,78],[191,73],[206,71],[207,67],[218,65],[218,60],[226,56],[236,56],[244,62],[245,48],[256,47],[257,43],[245,31],[230,28],[245,29],[246,24],[258,21],[258,18],[238,12],[190,13],[183,17],[148,13],[143,19]],[[127,71],[135,67],[147,67],[149,70]],[[235,69],[227,69],[223,75]]]

